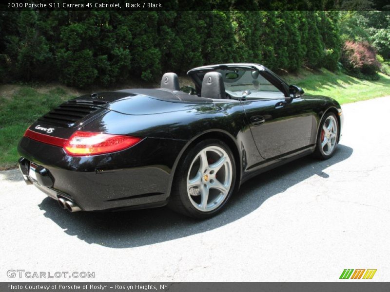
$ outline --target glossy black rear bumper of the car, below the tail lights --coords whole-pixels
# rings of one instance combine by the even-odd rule
[[[145,208],[167,203],[176,158],[186,141],[146,138],[129,149],[73,157],[61,147],[23,137],[20,170],[53,199],[74,201],[82,210]],[[37,180],[29,176],[29,164]]]

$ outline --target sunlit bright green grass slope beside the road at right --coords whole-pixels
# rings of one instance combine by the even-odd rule
[[[317,73],[305,70],[288,75],[285,80],[302,87],[308,94],[330,96],[340,104],[390,95],[390,76],[382,73],[379,80],[370,81],[325,69]]]

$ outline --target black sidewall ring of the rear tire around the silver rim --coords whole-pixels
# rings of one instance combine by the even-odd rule
[[[202,150],[203,148],[206,148],[208,146],[218,146],[222,147],[226,153],[228,154],[231,164],[232,164],[232,183],[230,185],[230,189],[228,192],[228,195],[224,199],[224,201],[214,210],[208,211],[208,212],[202,212],[198,209],[196,209],[193,204],[190,201],[190,198],[188,196],[187,191],[187,176],[188,172],[190,171],[190,166],[196,157],[196,155]],[[232,196],[235,188],[235,182],[236,182],[236,167],[235,167],[235,161],[234,161],[234,155],[232,153],[232,150],[229,146],[227,146],[224,142],[216,139],[207,139],[204,141],[199,142],[196,144],[185,156],[184,160],[182,161],[180,167],[177,169],[178,176],[177,176],[177,182],[178,183],[178,191],[180,199],[188,211],[188,213],[195,218],[209,218],[212,217],[214,214],[218,213],[229,201],[230,197]]]

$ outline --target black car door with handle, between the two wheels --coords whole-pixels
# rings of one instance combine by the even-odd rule
[[[272,159],[310,145],[313,113],[301,97],[242,101],[260,155]]]

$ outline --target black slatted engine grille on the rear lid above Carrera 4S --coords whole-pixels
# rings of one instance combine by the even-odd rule
[[[58,108],[49,111],[38,119],[39,122],[70,128],[84,119],[91,113],[101,109],[98,105],[107,103],[106,101],[76,101],[70,100],[61,104]]]

